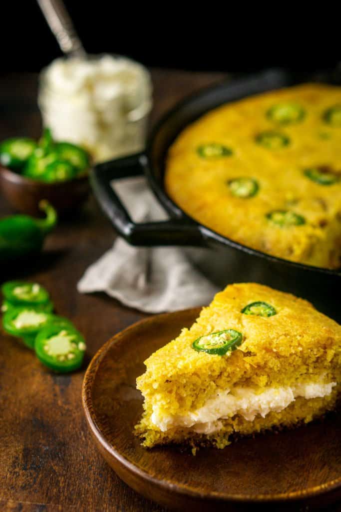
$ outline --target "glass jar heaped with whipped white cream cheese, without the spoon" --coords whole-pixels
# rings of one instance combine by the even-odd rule
[[[38,104],[56,140],[101,162],[144,148],[151,95],[149,72],[126,57],[58,58],[40,73]]]

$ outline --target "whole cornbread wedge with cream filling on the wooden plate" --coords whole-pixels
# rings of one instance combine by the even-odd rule
[[[217,293],[137,379],[144,446],[229,444],[232,434],[307,423],[341,391],[341,326],[259,284]]]

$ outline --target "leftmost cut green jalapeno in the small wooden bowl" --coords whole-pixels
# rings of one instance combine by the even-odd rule
[[[6,139],[0,144],[0,162],[6,167],[19,169],[36,147],[36,142],[28,137]]]

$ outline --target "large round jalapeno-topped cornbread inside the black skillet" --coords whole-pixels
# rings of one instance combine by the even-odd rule
[[[341,266],[341,87],[304,84],[225,104],[170,147],[168,195],[243,245]]]

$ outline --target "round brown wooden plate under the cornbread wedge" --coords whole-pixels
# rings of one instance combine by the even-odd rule
[[[194,457],[174,447],[144,449],[133,435],[142,414],[135,379],[143,361],[189,327],[199,309],[152,316],[111,338],[85,374],[82,400],[95,443],[122,480],[179,510],[290,509],[341,498],[341,415],[298,429],[243,438]]]

